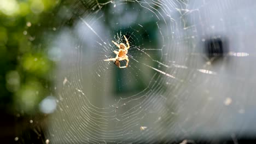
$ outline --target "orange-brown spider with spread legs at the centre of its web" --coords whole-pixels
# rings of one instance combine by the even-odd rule
[[[124,35],[124,38],[125,38],[127,47],[124,43],[117,44],[117,43],[115,43],[115,41],[112,40],[112,43],[114,43],[119,48],[118,51],[114,51],[114,53],[117,54],[117,56],[115,58],[104,59],[104,61],[114,61],[114,64],[117,65],[117,67],[127,68],[129,59],[128,59],[128,56],[126,56],[126,55],[128,53],[128,49],[130,48],[130,45],[129,45],[129,41],[127,40],[125,35]],[[120,61],[123,61],[123,60],[126,60],[126,65],[123,67],[120,67],[120,65],[121,65]]]

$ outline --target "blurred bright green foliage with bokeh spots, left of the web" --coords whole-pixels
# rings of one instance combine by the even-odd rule
[[[54,63],[44,43],[45,15],[58,1],[0,1],[0,109],[34,113],[50,94]]]

